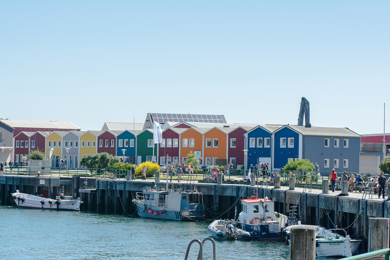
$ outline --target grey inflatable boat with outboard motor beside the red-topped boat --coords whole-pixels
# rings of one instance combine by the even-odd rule
[[[232,220],[215,220],[207,227],[207,231],[218,239],[250,240],[250,233],[242,229],[244,223]]]

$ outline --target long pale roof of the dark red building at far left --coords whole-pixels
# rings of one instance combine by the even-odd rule
[[[57,128],[57,129],[78,129],[71,122],[61,121],[31,121],[31,120],[5,120],[0,119],[0,122],[11,128]]]

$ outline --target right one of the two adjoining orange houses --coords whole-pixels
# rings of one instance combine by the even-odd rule
[[[214,127],[204,133],[204,165],[216,165],[216,159],[226,159],[227,133],[230,128]]]

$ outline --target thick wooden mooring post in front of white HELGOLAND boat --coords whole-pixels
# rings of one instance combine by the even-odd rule
[[[316,230],[314,228],[291,228],[290,260],[316,259]]]

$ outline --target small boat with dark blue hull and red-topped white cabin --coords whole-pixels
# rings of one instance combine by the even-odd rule
[[[280,228],[285,227],[287,216],[274,211],[274,201],[266,198],[241,199],[238,221],[251,239],[280,240]]]

